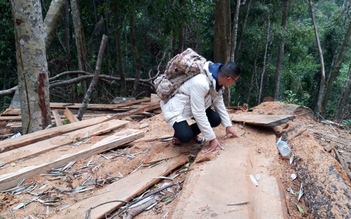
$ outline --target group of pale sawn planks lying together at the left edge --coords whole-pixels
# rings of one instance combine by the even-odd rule
[[[92,136],[109,133],[115,129],[124,127],[127,123],[128,121],[105,116],[54,127],[2,141],[0,146],[0,165],[2,166],[0,170],[0,191],[16,186],[22,179],[28,179],[37,174],[45,173],[52,168],[62,166],[74,159],[84,159],[144,136],[142,131],[124,129],[123,131],[115,132],[108,137],[103,137],[100,142],[89,148],[75,151],[74,153],[70,153],[69,150],[66,150],[64,155],[59,157],[54,156],[54,160],[41,160],[43,162],[34,166],[13,168],[13,166],[17,165],[17,163],[21,163],[24,159],[27,161],[28,159],[35,159],[37,155],[41,154],[50,157],[51,151],[56,148],[83,141]]]

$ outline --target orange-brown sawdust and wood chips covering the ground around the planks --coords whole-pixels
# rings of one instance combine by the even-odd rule
[[[337,136],[346,142],[351,142],[350,132],[340,129],[336,126],[322,124],[312,119],[311,111],[306,108],[296,110],[295,106],[280,102],[264,102],[253,108],[251,112],[235,111],[235,114],[262,114],[262,115],[291,115],[294,114],[296,119],[276,127],[275,129],[255,127],[248,124],[234,124],[234,128],[242,134],[238,143],[246,144],[254,148],[255,153],[272,160],[271,175],[274,176],[280,184],[281,194],[283,195],[282,206],[290,218],[347,218],[351,215],[351,196],[350,196],[350,179],[336,158],[335,150],[326,151],[325,147],[334,144],[330,138],[323,137]],[[292,131],[295,127],[296,132]],[[163,121],[162,114],[155,115],[141,121],[131,120],[128,128],[141,129],[145,131],[145,139],[159,138],[161,136],[171,136],[173,131]],[[289,131],[283,137],[288,138],[288,143],[294,154],[293,164],[282,159],[275,147],[275,142],[281,133]],[[312,131],[310,131],[312,130]],[[223,136],[224,132],[221,127],[215,129],[218,136]],[[318,131],[318,132],[317,132]],[[278,134],[277,134],[278,133]],[[316,134],[317,133],[317,134]],[[272,137],[273,136],[273,137]],[[88,147],[102,137],[91,138],[89,142],[79,147]],[[290,138],[290,139],[289,139]],[[329,140],[329,142],[328,142]],[[224,139],[220,138],[220,142]],[[56,149],[56,153],[64,153],[65,146]],[[70,204],[94,195],[99,188],[118,181],[133,171],[137,171],[141,164],[152,159],[165,147],[173,147],[169,142],[156,141],[138,141],[127,145],[125,148],[110,150],[100,155],[92,156],[89,159],[77,160],[73,166],[67,170],[65,176],[48,176],[38,175],[27,179],[26,183],[35,182],[35,188],[31,192],[10,195],[0,193],[0,216],[5,218],[47,218],[55,212],[65,209]],[[341,153],[346,161],[350,161],[351,146],[335,144],[334,148]],[[189,164],[198,159],[198,162],[216,159],[216,152],[203,155],[198,153],[201,148],[194,148],[189,153]],[[225,151],[223,152],[225,153]],[[16,165],[33,165],[32,162],[42,162],[45,157],[38,156],[37,160],[31,160],[31,163],[18,163]],[[50,153],[55,157],[55,153]],[[196,156],[198,156],[196,158]],[[50,157],[47,157],[50,160]],[[350,162],[348,162],[350,165]],[[13,166],[13,170],[16,169]],[[179,182],[186,179],[186,168],[182,167],[171,176],[178,174],[173,182]],[[0,169],[1,171],[1,169]],[[291,174],[296,174],[295,180],[291,179]],[[85,191],[74,191],[84,182]],[[160,185],[163,182],[160,181]],[[304,195],[297,201],[301,184],[304,187]],[[183,184],[182,186],[187,186]],[[155,185],[156,187],[156,185]],[[289,188],[289,191],[287,190]],[[150,188],[152,190],[152,188]],[[174,189],[181,193],[181,188]],[[31,200],[34,197],[40,197],[41,200],[51,200],[52,206],[44,205],[40,201],[32,201],[25,207],[13,210],[19,204]],[[167,195],[166,192],[164,195]],[[169,195],[169,194],[168,194]],[[163,202],[153,207],[149,211],[144,211],[135,218],[153,219],[167,218],[168,212],[175,207],[175,201],[181,198],[179,194],[173,197],[165,198]],[[345,199],[346,198],[346,199]],[[299,209],[300,207],[301,209]],[[266,209],[269,211],[269,209]],[[303,211],[303,213],[302,213]],[[324,213],[323,213],[324,212]],[[1,218],[0,217],[0,218]],[[83,218],[83,217],[82,217]]]

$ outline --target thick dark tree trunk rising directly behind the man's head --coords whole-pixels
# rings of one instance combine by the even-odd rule
[[[225,63],[230,58],[230,1],[216,1],[214,30],[214,62]],[[230,89],[225,89],[225,105],[230,104]]]

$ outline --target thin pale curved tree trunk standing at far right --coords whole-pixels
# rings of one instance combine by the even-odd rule
[[[319,41],[318,28],[317,28],[316,18],[314,16],[314,9],[313,9],[312,0],[309,0],[309,5],[310,5],[311,16],[312,16],[312,21],[313,21],[314,34],[316,37],[316,43],[317,43],[317,47],[318,47],[319,60],[321,62],[321,81],[319,84],[319,94],[318,94],[318,101],[317,101],[317,106],[316,106],[316,112],[318,115],[320,115],[321,107],[322,107],[322,100],[323,100],[324,86],[325,86],[324,58],[323,58],[323,51],[322,51],[321,43]]]

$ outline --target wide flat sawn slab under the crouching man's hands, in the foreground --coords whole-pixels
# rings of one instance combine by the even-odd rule
[[[191,166],[167,218],[287,218],[277,180],[270,176],[273,159],[257,155],[235,138],[229,138],[226,145],[215,159]],[[258,187],[249,177],[256,173],[261,176]],[[245,204],[230,205],[240,202]]]

